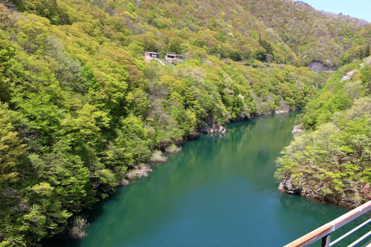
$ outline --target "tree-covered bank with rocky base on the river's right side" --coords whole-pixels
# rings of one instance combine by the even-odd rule
[[[289,193],[355,207],[371,200],[371,57],[339,69],[298,122],[276,177]]]

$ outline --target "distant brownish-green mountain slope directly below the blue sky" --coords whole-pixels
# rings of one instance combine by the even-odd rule
[[[318,11],[302,1],[241,1],[295,51],[298,61],[307,66],[319,60],[339,66],[364,54],[370,44],[371,24],[343,14]]]

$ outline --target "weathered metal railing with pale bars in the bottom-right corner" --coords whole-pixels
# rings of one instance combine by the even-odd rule
[[[371,201],[368,201],[365,204],[362,204],[361,206],[354,208],[352,211],[349,211],[346,214],[343,214],[339,218],[336,218],[335,220],[317,228],[316,230],[306,234],[305,236],[298,238],[297,240],[293,241],[292,243],[289,243],[285,245],[284,247],[305,247],[309,246],[309,244],[314,243],[317,240],[322,239],[322,247],[329,247],[333,246],[334,244],[338,243],[340,240],[343,238],[349,236],[350,234],[354,233],[357,231],[359,228],[362,226],[367,225],[368,223],[371,222],[371,218],[364,223],[360,224],[359,226],[355,227],[353,230],[348,231],[345,233],[343,236],[337,238],[336,240],[330,242],[330,235],[333,231],[336,229],[339,229],[340,227],[344,226],[345,224],[351,222],[355,218],[358,218],[362,214],[367,213],[368,211],[371,210]],[[368,233],[364,234],[362,237],[358,238],[355,240],[353,243],[348,245],[347,247],[353,247],[360,243],[362,240],[367,238],[368,236],[371,235],[371,231]],[[366,244],[364,244],[362,247],[368,246],[371,243],[371,240],[368,241]]]

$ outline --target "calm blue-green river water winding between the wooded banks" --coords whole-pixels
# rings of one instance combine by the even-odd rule
[[[189,141],[149,177],[99,202],[89,211],[89,237],[62,246],[283,246],[346,213],[278,191],[275,160],[293,139],[296,114],[228,124],[225,135]]]

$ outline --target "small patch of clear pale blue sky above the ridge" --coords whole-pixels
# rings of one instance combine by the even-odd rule
[[[315,9],[365,19],[371,22],[371,0],[302,0]]]

